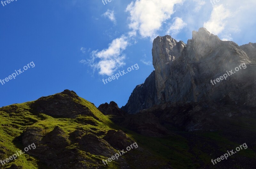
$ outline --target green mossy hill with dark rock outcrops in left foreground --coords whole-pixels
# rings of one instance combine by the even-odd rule
[[[31,144],[16,160],[1,165],[8,169],[106,168],[102,160],[135,141],[103,115],[92,103],[65,90],[36,101],[0,108],[0,158],[9,158]],[[116,143],[118,142],[118,143]],[[131,152],[134,150],[131,150]],[[108,168],[129,168],[143,153],[119,158]],[[136,155],[137,154],[137,155]]]

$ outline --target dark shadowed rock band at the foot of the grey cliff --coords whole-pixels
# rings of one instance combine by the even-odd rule
[[[251,112],[255,110],[256,107],[234,107],[213,102],[176,102],[155,105],[140,113],[152,113],[163,126],[183,131],[216,131],[225,128],[223,126],[232,126],[236,119],[254,119],[255,114]]]

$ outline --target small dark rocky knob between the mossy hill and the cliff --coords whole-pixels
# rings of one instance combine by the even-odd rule
[[[125,114],[125,111],[121,110],[118,105],[111,101],[109,104],[100,104],[98,109],[104,114],[104,115],[117,115],[117,116],[123,116]]]

